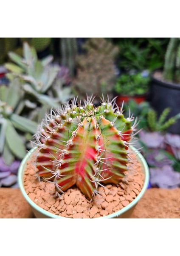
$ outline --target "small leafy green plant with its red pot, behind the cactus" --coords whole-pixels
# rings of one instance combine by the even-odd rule
[[[141,103],[147,99],[149,91],[148,72],[124,73],[116,81],[115,94],[118,95],[117,103],[128,102],[134,99],[135,102]]]

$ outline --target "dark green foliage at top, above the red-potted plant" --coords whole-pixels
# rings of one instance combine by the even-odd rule
[[[125,70],[155,70],[163,67],[168,38],[118,38],[119,67]]]

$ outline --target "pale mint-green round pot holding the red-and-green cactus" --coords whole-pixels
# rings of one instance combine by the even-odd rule
[[[144,195],[148,184],[149,184],[149,168],[148,165],[146,163],[146,160],[144,159],[144,157],[142,156],[141,153],[139,153],[139,151],[137,149],[135,149],[134,147],[131,147],[133,151],[135,151],[135,154],[138,154],[138,161],[141,164],[142,167],[142,172],[144,174],[144,184],[143,184],[143,188],[141,189],[141,192],[139,193],[139,195],[130,203],[128,204],[126,207],[124,207],[123,209],[119,210],[118,212],[115,212],[113,214],[104,216],[104,217],[99,217],[99,218],[129,218],[130,215],[132,214],[133,210],[135,209],[136,204],[138,203],[138,201],[142,198],[142,196]],[[18,171],[18,182],[19,182],[19,186],[20,186],[20,191],[22,192],[24,198],[26,199],[26,201],[28,202],[28,204],[30,204],[30,206],[32,207],[32,210],[34,212],[34,215],[37,218],[65,218],[65,217],[61,217],[59,215],[55,215],[51,212],[45,211],[44,209],[42,209],[41,207],[39,207],[37,204],[35,204],[27,195],[27,193],[25,192],[25,188],[24,188],[24,183],[23,183],[23,175],[25,172],[25,168],[27,165],[27,161],[31,159],[31,155],[33,154],[34,149],[31,149],[30,152],[28,152],[28,154],[26,154],[26,156],[24,157],[24,159],[22,160],[20,167],[19,167],[19,171]]]

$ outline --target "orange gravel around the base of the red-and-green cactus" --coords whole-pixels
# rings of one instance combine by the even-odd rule
[[[37,169],[36,169],[37,172]],[[144,175],[140,164],[135,165],[135,174],[129,175],[128,184],[99,186],[101,196],[96,195],[90,202],[81,191],[73,186],[60,198],[53,195],[54,184],[37,180],[32,160],[28,162],[24,175],[24,187],[28,196],[42,209],[67,218],[98,218],[110,215],[126,207],[143,187]]]

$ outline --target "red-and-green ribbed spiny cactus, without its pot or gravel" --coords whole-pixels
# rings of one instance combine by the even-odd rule
[[[100,193],[98,186],[117,185],[130,172],[129,144],[137,119],[133,125],[130,114],[125,119],[114,99],[102,99],[98,107],[92,101],[87,97],[81,104],[74,99],[61,110],[52,110],[34,135],[38,175],[54,183],[56,195],[76,185],[92,199]]]

